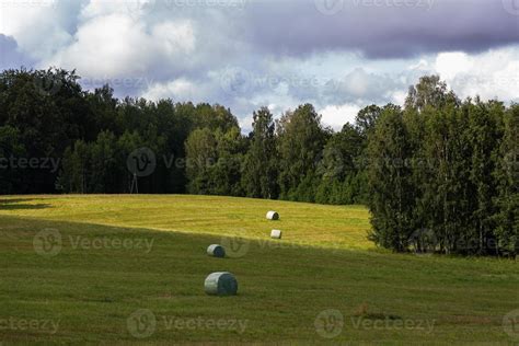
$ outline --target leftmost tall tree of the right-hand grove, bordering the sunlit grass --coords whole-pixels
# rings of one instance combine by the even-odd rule
[[[407,129],[400,107],[385,106],[369,142],[369,206],[373,230],[370,238],[379,245],[403,252],[413,234],[415,194]]]

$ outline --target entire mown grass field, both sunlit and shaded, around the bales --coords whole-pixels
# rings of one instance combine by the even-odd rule
[[[517,262],[391,254],[368,231],[360,206],[3,197],[0,342],[519,342]],[[208,257],[211,243],[231,257]],[[221,270],[239,296],[205,295]]]

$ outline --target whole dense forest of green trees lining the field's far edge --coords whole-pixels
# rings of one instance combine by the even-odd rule
[[[460,100],[439,77],[404,107],[370,105],[333,131],[310,104],[254,112],[117,100],[74,71],[0,74],[1,194],[207,194],[366,204],[370,238],[396,252],[519,247],[519,105]]]

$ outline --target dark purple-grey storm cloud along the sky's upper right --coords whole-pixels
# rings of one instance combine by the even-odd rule
[[[478,53],[519,42],[514,1],[254,1],[244,11],[242,37],[266,53],[291,56],[323,50],[358,50],[368,58]]]

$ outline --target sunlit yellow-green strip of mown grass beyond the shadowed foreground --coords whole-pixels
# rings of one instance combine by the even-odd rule
[[[162,231],[265,239],[273,227],[289,242],[373,249],[362,206],[321,206],[210,196],[27,196],[4,198],[0,216],[19,216]],[[266,220],[275,209],[281,219]]]

